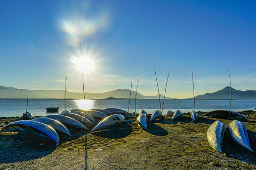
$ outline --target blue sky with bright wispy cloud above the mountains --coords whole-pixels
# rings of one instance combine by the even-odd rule
[[[0,85],[193,96],[256,90],[255,1],[0,1]],[[82,60],[81,60],[82,58]],[[83,60],[86,58],[86,60]],[[89,58],[89,59],[88,59]],[[90,63],[84,64],[83,62]],[[82,66],[85,68],[81,69]],[[89,69],[91,70],[90,72]]]

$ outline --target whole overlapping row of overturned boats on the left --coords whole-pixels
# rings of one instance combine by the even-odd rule
[[[68,128],[85,131],[92,128],[91,132],[111,128],[124,122],[123,114],[127,114],[127,112],[115,108],[90,111],[73,109],[63,111],[59,115],[46,115],[33,120],[15,121],[4,126],[1,132],[15,131],[41,135],[53,140],[57,146],[60,134],[71,136]],[[99,121],[99,123],[95,125],[95,121]]]

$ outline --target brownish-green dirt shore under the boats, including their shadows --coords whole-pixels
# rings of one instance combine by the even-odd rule
[[[134,118],[89,134],[69,129],[72,136],[59,135],[57,147],[38,135],[1,132],[0,169],[255,169],[254,111],[243,112],[250,120],[244,124],[254,152],[239,148],[226,133],[226,155],[207,141],[207,129],[217,119],[202,114],[196,123],[190,123],[188,113],[177,121],[156,121],[148,131]],[[18,119],[2,117],[0,128]],[[220,121],[227,128],[232,120]]]

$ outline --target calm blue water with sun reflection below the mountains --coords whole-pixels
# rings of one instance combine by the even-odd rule
[[[161,101],[163,103],[163,101]],[[162,105],[161,103],[161,105]],[[229,100],[196,100],[196,111],[212,111],[215,109],[229,109]],[[0,117],[15,117],[22,116],[26,112],[26,99],[1,99],[0,100]],[[28,112],[34,116],[44,116],[48,114],[59,114],[59,113],[47,113],[46,107],[58,107],[59,113],[64,108],[64,100],[61,99],[29,99],[28,100]],[[66,109],[91,109],[91,108],[120,108],[127,111],[129,100],[66,100]],[[136,100],[136,111],[139,109],[145,109],[147,113],[153,113],[156,109],[159,109],[159,100]],[[256,108],[256,100],[232,100],[231,111],[245,111],[253,110]],[[193,100],[165,100],[164,110],[175,111],[180,109],[182,112],[189,112],[194,109]],[[130,101],[129,112],[135,112],[135,100]]]

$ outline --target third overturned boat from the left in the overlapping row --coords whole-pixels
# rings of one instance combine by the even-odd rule
[[[54,120],[57,120],[57,121],[61,122],[63,125],[65,125],[68,128],[77,128],[77,129],[88,130],[85,125],[83,125],[82,123],[78,122],[77,120],[74,120],[74,118],[71,118],[71,117],[68,117],[68,116],[63,116],[63,115],[47,115],[47,116],[44,116],[44,117],[48,117],[48,118],[52,118]]]

